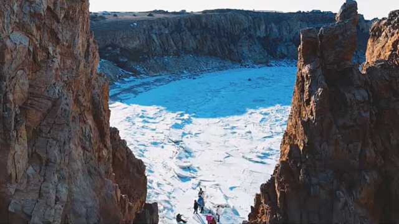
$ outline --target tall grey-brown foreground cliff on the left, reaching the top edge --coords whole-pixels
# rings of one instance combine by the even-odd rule
[[[89,25],[88,0],[0,6],[0,223],[131,223],[144,204],[142,163],[111,145]]]

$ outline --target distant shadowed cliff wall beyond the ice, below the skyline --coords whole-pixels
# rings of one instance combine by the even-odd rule
[[[103,20],[94,17],[91,29],[101,58],[134,73],[161,73],[170,67],[181,71],[216,67],[207,65],[212,58],[241,64],[296,60],[300,29],[335,21],[332,12],[211,10],[202,14],[156,15],[143,18],[121,13]],[[369,26],[370,22],[360,16],[358,61],[364,61]],[[192,57],[196,58],[190,60]]]

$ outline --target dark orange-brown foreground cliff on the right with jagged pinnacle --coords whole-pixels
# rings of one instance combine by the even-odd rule
[[[373,24],[363,73],[352,63],[357,4],[336,24],[301,31],[292,112],[280,163],[249,223],[399,220],[399,16]]]

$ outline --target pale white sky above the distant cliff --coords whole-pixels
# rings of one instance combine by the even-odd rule
[[[216,8],[296,12],[322,10],[338,12],[345,0],[89,0],[90,11],[142,12],[151,10],[202,11]],[[358,0],[359,13],[366,19],[387,17],[399,9],[399,0]]]

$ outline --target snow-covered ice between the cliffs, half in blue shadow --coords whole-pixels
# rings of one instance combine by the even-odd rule
[[[111,126],[146,164],[148,201],[160,223],[206,223],[193,215],[223,206],[222,224],[247,218],[279,157],[296,67],[233,69],[183,79],[127,79],[111,89]]]

